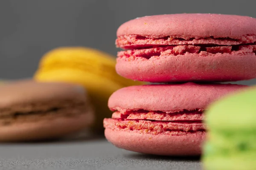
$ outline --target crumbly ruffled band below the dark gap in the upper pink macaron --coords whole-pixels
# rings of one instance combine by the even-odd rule
[[[150,59],[151,57],[166,57],[177,55],[198,54],[200,57],[215,54],[231,54],[236,56],[253,55],[256,53],[256,45],[169,45],[155,48],[133,49],[119,51],[119,59],[136,60]]]

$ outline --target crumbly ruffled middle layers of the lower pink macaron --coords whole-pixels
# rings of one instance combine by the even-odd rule
[[[166,113],[163,111],[116,111],[112,118],[104,119],[104,127],[112,130],[138,133],[186,135],[205,133],[204,118],[200,109]]]

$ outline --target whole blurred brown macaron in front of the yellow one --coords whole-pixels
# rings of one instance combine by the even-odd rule
[[[78,85],[24,80],[0,86],[0,142],[56,139],[93,123]]]

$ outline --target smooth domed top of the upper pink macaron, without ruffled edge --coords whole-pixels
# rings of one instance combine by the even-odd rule
[[[122,24],[116,35],[186,35],[189,37],[231,37],[256,34],[256,19],[224,14],[166,14],[140,17]]]

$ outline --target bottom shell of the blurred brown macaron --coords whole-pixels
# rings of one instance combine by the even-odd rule
[[[89,109],[76,116],[56,116],[55,119],[39,119],[31,122],[17,122],[0,125],[0,142],[36,141],[57,139],[77,133],[93,123],[94,113]]]

